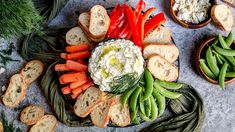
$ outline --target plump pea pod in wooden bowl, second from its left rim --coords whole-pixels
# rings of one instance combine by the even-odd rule
[[[214,73],[216,77],[219,76],[219,67],[217,66],[215,56],[212,54],[211,47],[206,51],[206,61],[212,73]]]

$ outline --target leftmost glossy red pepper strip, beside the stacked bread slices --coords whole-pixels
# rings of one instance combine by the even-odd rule
[[[124,19],[125,17],[125,9],[120,8],[110,19],[110,26],[107,32],[107,37],[110,38],[110,35],[114,32],[114,30],[117,28],[119,23]]]

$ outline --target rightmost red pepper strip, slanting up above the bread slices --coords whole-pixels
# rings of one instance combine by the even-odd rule
[[[144,36],[146,36],[152,29],[163,24],[165,21],[166,21],[166,18],[163,12],[155,15],[153,18],[151,18],[149,21],[145,23]]]

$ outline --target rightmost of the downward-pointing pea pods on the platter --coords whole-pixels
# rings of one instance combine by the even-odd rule
[[[158,108],[159,108],[159,116],[161,116],[166,109],[166,97],[162,96],[159,92],[157,92],[157,90],[155,90],[155,88],[153,89],[152,95],[154,96],[154,98],[157,101]]]

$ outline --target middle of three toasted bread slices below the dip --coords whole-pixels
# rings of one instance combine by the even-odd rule
[[[103,101],[91,112],[91,121],[95,126],[105,128],[108,125],[111,107],[114,103],[114,97],[106,97],[105,101]]]

